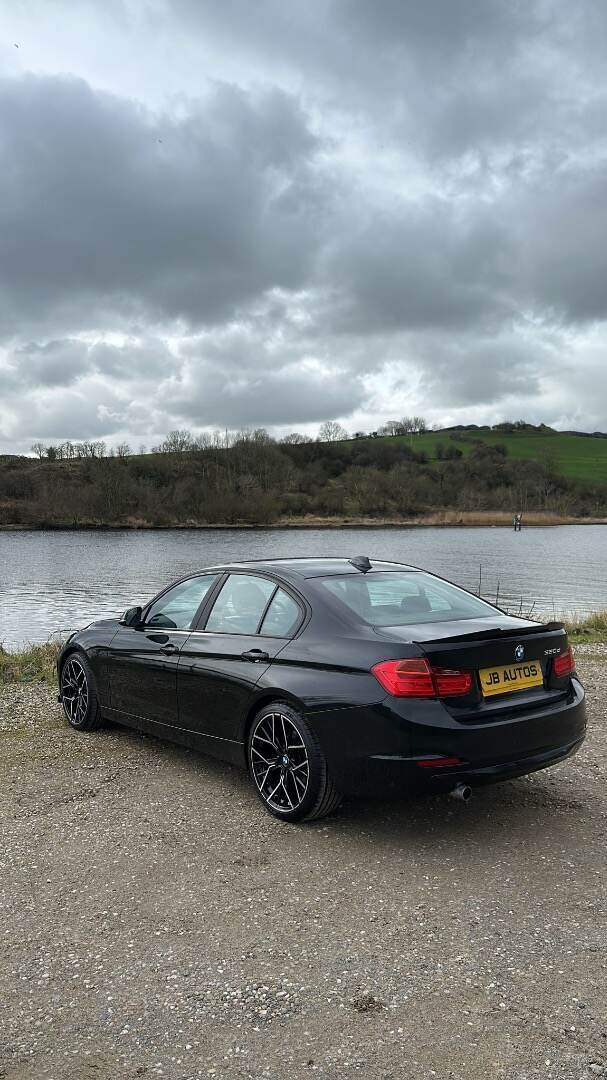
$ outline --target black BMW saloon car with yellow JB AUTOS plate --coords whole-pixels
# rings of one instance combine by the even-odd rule
[[[363,555],[199,570],[72,634],[57,673],[77,730],[117,720],[243,766],[292,822],[345,795],[467,798],[585,732],[561,623]]]

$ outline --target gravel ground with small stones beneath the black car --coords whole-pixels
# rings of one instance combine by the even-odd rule
[[[607,650],[570,761],[285,826],[0,691],[0,1077],[607,1077]]]

